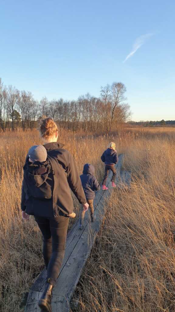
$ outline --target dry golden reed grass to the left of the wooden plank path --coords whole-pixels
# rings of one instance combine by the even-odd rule
[[[39,144],[37,131],[6,132],[1,134],[0,146],[0,311],[19,311],[21,294],[27,291],[43,268],[42,239],[33,219],[21,220],[22,166],[31,145]],[[96,168],[102,178],[103,166],[99,161],[108,140],[105,137],[79,137],[60,130],[59,141],[73,155],[79,173],[86,162]],[[74,197],[74,211],[79,213]],[[75,220],[71,219],[69,227]]]

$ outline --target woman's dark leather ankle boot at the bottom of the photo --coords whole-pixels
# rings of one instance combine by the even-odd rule
[[[50,283],[47,283],[45,287],[45,291],[43,295],[41,296],[41,299],[39,300],[39,303],[38,303],[41,311],[52,312],[52,307],[51,307],[52,290],[53,290],[53,285],[51,285]]]

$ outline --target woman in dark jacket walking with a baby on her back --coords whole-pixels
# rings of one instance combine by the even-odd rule
[[[51,312],[52,290],[64,258],[69,215],[73,212],[70,189],[87,211],[88,204],[72,155],[57,143],[58,128],[51,118],[40,123],[43,145],[33,146],[26,157],[22,184],[22,218],[34,215],[43,235],[47,268],[45,291],[39,300],[42,311]]]

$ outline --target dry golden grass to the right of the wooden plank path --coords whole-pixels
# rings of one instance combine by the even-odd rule
[[[123,149],[131,189],[106,203],[78,311],[175,311],[175,132],[154,134]]]

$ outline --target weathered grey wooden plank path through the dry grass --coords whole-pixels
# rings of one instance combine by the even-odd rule
[[[120,175],[123,155],[119,155],[119,161],[116,165],[118,182],[124,179],[126,173]],[[106,186],[109,187],[111,173],[109,174]],[[64,261],[58,276],[57,284],[53,289],[52,311],[69,312],[70,300],[78,283],[79,277],[90,255],[93,243],[100,229],[104,217],[104,200],[110,194],[110,189],[102,189],[96,193],[94,199],[95,222],[91,222],[90,213],[84,217],[84,227],[82,230],[78,227],[78,221],[70,229],[66,241]],[[46,281],[46,270],[43,270],[32,285],[26,303],[25,312],[40,312],[38,300],[40,299]]]

